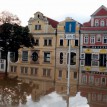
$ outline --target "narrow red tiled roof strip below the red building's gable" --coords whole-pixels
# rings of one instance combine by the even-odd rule
[[[107,27],[81,27],[85,31],[107,31]]]

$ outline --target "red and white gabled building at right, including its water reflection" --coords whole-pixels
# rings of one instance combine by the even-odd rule
[[[101,6],[81,27],[79,90],[92,107],[107,103],[107,8]],[[104,104],[102,103],[102,107]],[[101,106],[101,105],[100,105]]]

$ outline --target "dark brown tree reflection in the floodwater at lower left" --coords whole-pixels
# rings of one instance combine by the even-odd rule
[[[17,107],[26,104],[32,87],[16,80],[0,80],[0,107]]]

